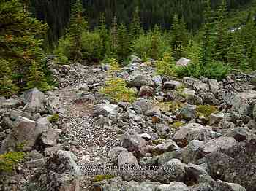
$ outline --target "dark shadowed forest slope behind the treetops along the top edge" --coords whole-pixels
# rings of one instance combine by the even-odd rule
[[[217,8],[221,0],[211,0],[211,7]],[[106,24],[111,25],[113,17],[117,17],[118,23],[129,25],[132,12],[135,7],[140,7],[140,19],[144,29],[152,28],[159,24],[163,28],[170,29],[172,17],[178,14],[184,17],[189,31],[197,31],[203,23],[203,0],[83,0],[83,14],[89,20],[91,28],[97,27],[101,13],[105,14]],[[31,11],[39,20],[44,20],[50,26],[48,39],[50,42],[63,36],[64,29],[69,21],[70,0],[31,0]],[[228,0],[227,10],[232,12],[250,6],[252,0]]]

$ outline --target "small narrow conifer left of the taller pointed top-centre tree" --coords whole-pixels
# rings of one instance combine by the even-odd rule
[[[118,26],[116,52],[119,60],[121,61],[124,61],[124,59],[129,55],[129,38],[127,28],[123,23]]]

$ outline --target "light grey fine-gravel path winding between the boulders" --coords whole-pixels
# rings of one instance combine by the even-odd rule
[[[68,129],[69,136],[75,141],[70,142],[70,150],[78,156],[78,165],[108,164],[108,152],[118,145],[118,135],[112,128],[102,128],[94,125],[91,117],[94,103],[75,103],[75,87],[65,87],[56,91],[61,104],[67,111],[64,126]],[[110,163],[109,163],[110,164]],[[82,190],[89,190],[94,176],[83,176]]]

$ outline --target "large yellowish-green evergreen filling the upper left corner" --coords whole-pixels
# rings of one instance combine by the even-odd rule
[[[45,34],[47,26],[31,17],[23,3],[18,0],[0,1],[0,59],[3,71],[7,72],[1,80],[7,80],[10,93],[15,93],[15,86],[20,90],[26,86],[31,64],[40,70],[39,63],[43,57],[39,36]]]

